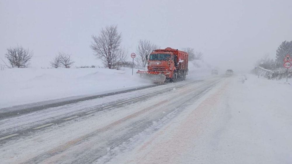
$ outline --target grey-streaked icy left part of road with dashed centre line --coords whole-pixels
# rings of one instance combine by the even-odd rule
[[[2,118],[0,160],[107,162],[116,155],[111,150],[156,131],[223,79],[169,83]]]

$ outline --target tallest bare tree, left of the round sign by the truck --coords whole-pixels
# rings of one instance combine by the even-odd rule
[[[100,30],[99,36],[91,36],[91,48],[95,55],[100,58],[109,69],[114,69],[119,55],[119,46],[122,41],[122,34],[118,33],[117,25],[106,26]]]

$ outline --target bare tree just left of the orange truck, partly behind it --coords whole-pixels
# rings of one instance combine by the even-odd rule
[[[136,49],[137,57],[135,58],[135,61],[138,63],[138,65],[145,67],[147,64],[146,56],[149,55],[153,50],[159,48],[159,46],[151,43],[149,40],[140,39]]]

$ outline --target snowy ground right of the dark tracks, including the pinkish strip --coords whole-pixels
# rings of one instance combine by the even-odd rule
[[[292,163],[292,86],[232,77],[110,163]]]

